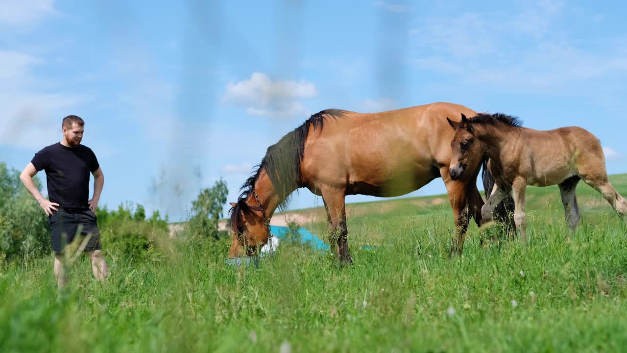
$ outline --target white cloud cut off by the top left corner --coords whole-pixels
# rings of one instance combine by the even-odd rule
[[[56,13],[54,0],[3,0],[0,24],[25,26]]]

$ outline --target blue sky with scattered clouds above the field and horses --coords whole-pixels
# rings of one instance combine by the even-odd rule
[[[235,200],[266,148],[314,112],[447,101],[535,129],[582,126],[609,173],[624,173],[626,12],[618,1],[4,0],[0,161],[21,170],[76,114],[105,173],[100,205],[181,220],[220,177]],[[438,179],[410,195],[443,192]],[[314,205],[301,189],[292,208]]]

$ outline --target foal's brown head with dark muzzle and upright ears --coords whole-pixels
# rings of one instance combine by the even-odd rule
[[[461,114],[460,122],[451,121],[448,117],[446,120],[455,130],[451,141],[453,153],[448,172],[451,179],[460,180],[465,176],[466,170],[475,171],[483,158],[483,150],[471,122],[464,114]]]

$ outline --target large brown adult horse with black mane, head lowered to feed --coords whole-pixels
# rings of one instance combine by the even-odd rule
[[[345,195],[395,197],[440,177],[455,216],[451,253],[460,254],[470,217],[479,224],[483,206],[477,190],[482,159],[468,165],[458,180],[448,171],[453,131],[446,116],[461,113],[476,114],[464,106],[433,103],[372,114],[329,109],[312,115],[268,148],[238,202],[231,204],[229,258],[256,254],[268,241],[269,219],[277,207],[305,187],[322,196],[334,254],[350,263]]]

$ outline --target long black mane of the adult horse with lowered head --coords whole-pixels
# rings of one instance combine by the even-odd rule
[[[262,170],[270,176],[275,192],[283,200],[279,205],[281,210],[285,210],[290,202],[290,193],[301,187],[301,171],[300,163],[305,155],[305,139],[309,133],[310,127],[314,130],[322,131],[325,121],[332,117],[344,117],[345,111],[339,109],[326,109],[317,112],[307,119],[301,126],[285,134],[277,143],[268,147],[266,156],[263,157],[261,163],[256,165],[253,175],[246,179],[241,186],[241,194],[237,204],[229,210],[231,215],[230,226],[234,232],[241,232],[240,217],[241,212],[247,212],[249,209],[261,210],[257,205],[247,205],[246,198],[252,193],[255,182],[259,178]]]

